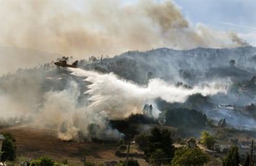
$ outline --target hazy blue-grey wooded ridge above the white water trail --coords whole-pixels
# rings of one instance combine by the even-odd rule
[[[100,72],[114,72],[127,80],[147,83],[149,78],[162,78],[173,83],[189,84],[205,79],[231,77],[248,80],[256,73],[256,48],[197,48],[178,51],[168,48],[139,52],[128,51],[111,59],[91,57],[81,67]]]

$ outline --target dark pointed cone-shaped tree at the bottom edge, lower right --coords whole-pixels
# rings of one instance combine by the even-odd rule
[[[223,160],[223,166],[238,166],[239,165],[239,152],[237,146],[232,146],[229,149],[227,156]]]

